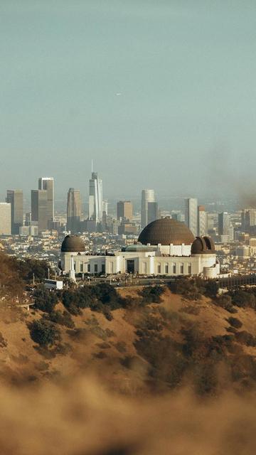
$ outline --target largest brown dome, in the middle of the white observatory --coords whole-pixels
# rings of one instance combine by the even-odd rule
[[[152,221],[142,230],[138,241],[144,245],[191,245],[195,240],[191,230],[173,218],[161,218],[161,220]]]

